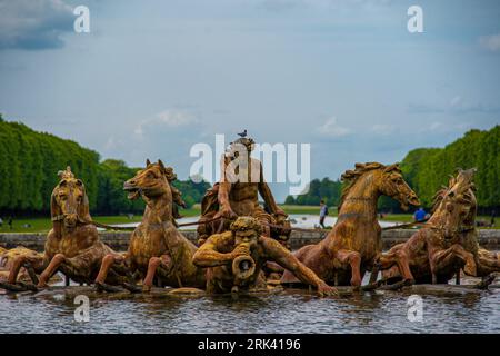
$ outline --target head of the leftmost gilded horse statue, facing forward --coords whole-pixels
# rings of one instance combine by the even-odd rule
[[[90,220],[89,198],[83,182],[74,178],[71,167],[59,171],[60,181],[51,196],[52,221],[62,221],[67,229],[73,229],[79,221]]]

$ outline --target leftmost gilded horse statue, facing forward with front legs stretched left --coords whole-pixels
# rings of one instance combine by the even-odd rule
[[[113,251],[99,239],[91,222],[83,182],[74,177],[70,167],[59,171],[59,178],[50,201],[52,229],[47,235],[44,251],[17,257],[12,261],[7,289],[17,283],[22,267],[41,274],[38,283],[36,275],[30,274],[38,288],[46,287],[58,270],[77,283],[91,284],[102,258]]]

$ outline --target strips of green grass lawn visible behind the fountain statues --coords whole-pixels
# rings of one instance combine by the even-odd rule
[[[310,214],[310,215],[319,215],[318,206],[298,206],[298,205],[281,205],[281,208],[287,214]],[[337,208],[329,209],[329,216],[337,216]],[[184,217],[192,217],[200,215],[200,205],[194,205],[189,209],[181,209],[180,214]],[[131,219],[127,216],[92,216],[92,219],[107,224],[107,225],[118,225],[118,224],[128,224],[128,222],[138,222],[142,219],[141,215],[134,215]],[[382,221],[398,221],[398,222],[411,222],[413,220],[413,216],[411,214],[389,214],[387,215]],[[490,217],[488,216],[479,216],[477,220],[490,221]],[[30,225],[27,227],[26,225]],[[12,230],[9,229],[7,225],[7,219],[4,218],[3,225],[0,227],[1,233],[47,233],[52,227],[52,224],[49,218],[20,218],[14,219],[12,225]],[[496,219],[496,229],[500,228],[500,218]]]

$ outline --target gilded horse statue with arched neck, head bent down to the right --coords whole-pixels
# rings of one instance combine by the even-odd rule
[[[404,181],[398,165],[378,162],[357,164],[347,170],[339,205],[339,216],[332,230],[316,245],[307,245],[294,253],[297,258],[311,268],[328,284],[359,287],[367,270],[371,270],[382,253],[381,227],[377,220],[377,202],[380,196],[398,200],[407,210],[418,206],[419,199]],[[404,256],[396,256],[394,263],[402,275],[411,281]],[[287,270],[281,281],[298,283]]]

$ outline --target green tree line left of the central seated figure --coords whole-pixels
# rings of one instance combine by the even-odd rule
[[[23,123],[4,121],[0,115],[0,215],[47,215],[58,171],[71,166],[83,180],[92,214],[117,215],[143,211],[141,199],[129,200],[123,181],[139,168],[123,161],[100,161],[98,152],[51,134],[37,132]],[[188,207],[201,201],[208,182],[173,184]]]

